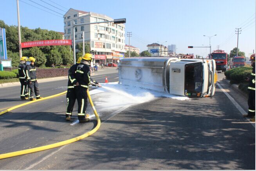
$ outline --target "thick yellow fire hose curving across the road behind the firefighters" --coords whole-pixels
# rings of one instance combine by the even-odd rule
[[[59,95],[64,94],[64,93],[66,93],[66,91],[63,92],[63,93],[56,94],[56,95],[59,96]],[[56,95],[53,95],[53,96],[56,97]],[[88,99],[90,101],[90,104],[92,106],[92,109],[94,111],[94,114],[95,114],[95,116],[97,118],[97,125],[96,125],[96,127],[93,130],[91,130],[89,132],[86,132],[85,134],[80,135],[78,137],[74,137],[72,139],[68,139],[68,140],[65,140],[65,141],[57,142],[57,143],[54,143],[54,144],[49,144],[49,145],[46,145],[46,146],[31,148],[31,149],[27,149],[27,150],[14,151],[14,152],[11,152],[11,153],[0,154],[0,159],[5,159],[5,158],[9,158],[9,157],[18,156],[18,155],[29,154],[29,153],[34,153],[34,152],[38,152],[38,151],[48,150],[48,149],[51,149],[51,148],[56,148],[56,147],[59,147],[59,146],[70,144],[70,143],[75,142],[75,141],[79,141],[79,140],[81,140],[81,139],[83,139],[85,137],[88,137],[88,136],[94,134],[99,129],[99,126],[101,125],[101,120],[99,119],[99,115],[97,114],[97,111],[96,111],[96,109],[95,109],[95,107],[94,107],[94,105],[92,103],[92,99],[91,99],[91,96],[89,94],[88,89],[87,89],[87,95],[88,95]],[[49,99],[49,97],[46,97],[46,98]],[[39,100],[43,100],[43,99],[46,100],[46,98],[42,98],[42,99],[39,99]],[[39,101],[39,100],[36,100],[36,101]],[[31,102],[34,102],[34,101],[31,101]],[[27,104],[30,104],[30,103],[27,102]],[[27,104],[23,103],[22,105],[19,105],[19,107],[23,106],[23,105],[27,105]],[[14,107],[16,107],[16,106],[14,106]],[[18,108],[18,107],[16,107],[16,108]],[[16,108],[14,108],[14,109],[16,109]],[[7,110],[10,111],[9,109],[7,109]]]

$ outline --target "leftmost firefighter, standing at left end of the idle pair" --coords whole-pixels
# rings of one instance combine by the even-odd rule
[[[21,89],[20,89],[20,98],[22,100],[27,100],[29,93],[27,91],[27,80],[26,80],[26,73],[25,73],[25,67],[26,67],[26,61],[27,57],[23,56],[20,59],[20,64],[18,66],[18,71],[19,71],[19,80],[21,84]]]

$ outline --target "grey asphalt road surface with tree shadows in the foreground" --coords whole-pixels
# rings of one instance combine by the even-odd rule
[[[117,70],[110,68],[94,78],[104,82],[105,75],[109,82],[118,80]],[[222,77],[219,73],[218,80]],[[246,99],[219,83],[247,111]],[[42,96],[56,94],[65,91],[66,84],[41,83],[40,91]],[[18,100],[19,87],[0,91],[0,108],[23,102]],[[59,148],[2,159],[1,169],[255,169],[255,125],[242,118],[218,86],[211,98],[155,98],[117,111],[97,105],[102,98],[101,93],[92,95],[102,122],[95,134]],[[65,109],[65,96],[60,96],[0,116],[0,153],[63,141],[96,126],[95,118],[70,125]],[[87,111],[93,113],[90,105]]]

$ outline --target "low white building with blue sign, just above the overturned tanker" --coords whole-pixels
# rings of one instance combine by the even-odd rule
[[[151,53],[151,56],[168,56],[168,48],[164,45],[159,45],[158,43],[152,43],[147,45],[148,52]],[[166,52],[164,52],[166,51]]]

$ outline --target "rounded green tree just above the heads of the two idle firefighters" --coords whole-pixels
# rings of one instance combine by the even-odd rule
[[[23,56],[36,58],[36,66],[44,66],[46,62],[45,54],[38,47],[32,47],[22,51]]]

